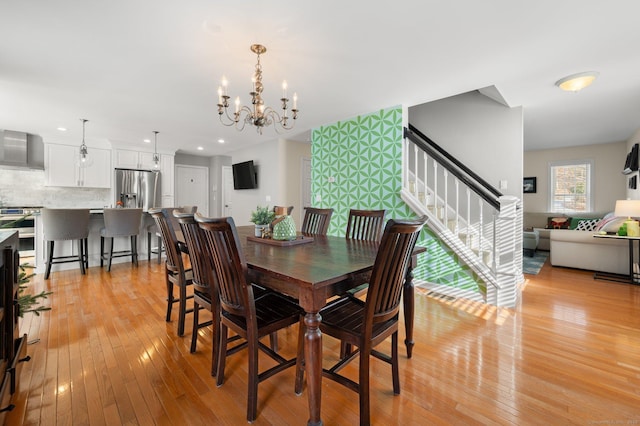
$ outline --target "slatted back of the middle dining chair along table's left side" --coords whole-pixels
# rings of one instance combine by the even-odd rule
[[[204,231],[200,229],[193,213],[174,210],[173,216],[180,224],[184,242],[189,250],[194,291],[214,295],[217,286],[212,273],[213,263],[206,251]]]

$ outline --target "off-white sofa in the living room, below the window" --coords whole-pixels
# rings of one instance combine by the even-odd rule
[[[550,230],[551,264],[590,271],[629,274],[629,242],[594,238],[594,232]]]

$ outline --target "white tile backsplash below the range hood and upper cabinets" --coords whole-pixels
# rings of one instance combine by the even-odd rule
[[[0,206],[102,208],[112,205],[111,190],[44,185],[44,170],[0,168]]]

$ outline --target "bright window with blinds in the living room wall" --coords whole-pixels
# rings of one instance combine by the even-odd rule
[[[593,160],[549,163],[549,211],[590,212],[593,210]]]

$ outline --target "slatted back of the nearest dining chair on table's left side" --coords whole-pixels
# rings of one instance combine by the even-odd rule
[[[222,308],[233,315],[245,317],[249,324],[255,318],[255,303],[233,218],[213,219],[196,215],[196,222],[206,236]]]

